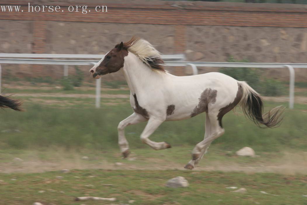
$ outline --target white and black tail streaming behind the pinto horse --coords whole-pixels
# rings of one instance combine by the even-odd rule
[[[260,127],[261,124],[266,127],[274,128],[279,126],[282,121],[282,113],[284,106],[278,106],[271,109],[269,112],[263,113],[263,100],[260,95],[251,88],[245,81],[238,81],[242,88],[242,98],[240,104],[243,108],[245,116],[255,122]]]

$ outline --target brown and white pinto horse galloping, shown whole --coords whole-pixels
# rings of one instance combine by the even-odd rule
[[[263,100],[245,81],[223,73],[211,72],[193,76],[174,76],[165,71],[161,53],[148,41],[133,37],[111,49],[91,69],[93,78],[122,71],[130,89],[133,113],[118,125],[118,144],[123,158],[129,151],[124,128],[147,121],[141,133],[143,143],[155,150],[171,148],[167,142],[154,142],[150,135],[164,121],[184,120],[206,113],[204,140],[192,150],[185,165],[195,168],[213,140],[224,134],[222,117],[236,105],[259,127],[273,128],[282,121],[284,107],[263,114]]]

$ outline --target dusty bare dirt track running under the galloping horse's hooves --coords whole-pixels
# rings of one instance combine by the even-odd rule
[[[148,152],[154,152],[148,150]],[[58,171],[63,169],[105,169],[105,170],[186,170],[184,163],[172,162],[159,158],[150,158],[131,154],[128,159],[121,159],[119,153],[111,154],[116,156],[107,160],[102,156],[94,159],[84,160],[80,153],[74,153],[73,158],[66,158],[63,154],[57,153],[59,157],[55,160],[41,160],[35,154],[24,158],[22,161],[12,160],[2,163],[0,161],[0,172],[2,173],[37,173],[45,171]],[[65,154],[64,154],[65,155]],[[109,157],[109,156],[108,156]],[[261,156],[259,156],[261,157]],[[241,157],[245,161],[227,161],[227,157],[222,160],[207,160],[205,156],[194,171],[243,171],[245,173],[274,172],[287,175],[307,174],[307,152],[290,153],[284,152],[283,156],[276,160],[260,160],[250,162],[251,158]],[[229,158],[230,159],[230,158]]]

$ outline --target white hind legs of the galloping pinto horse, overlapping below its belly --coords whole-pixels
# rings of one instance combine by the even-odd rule
[[[193,169],[195,165],[200,161],[201,157],[207,151],[209,145],[213,140],[224,134],[224,129],[220,126],[218,118],[218,110],[206,113],[206,123],[205,123],[205,137],[204,140],[196,144],[192,151],[192,160],[185,166],[187,169]],[[208,128],[209,127],[209,128]],[[207,134],[207,130],[209,133]]]

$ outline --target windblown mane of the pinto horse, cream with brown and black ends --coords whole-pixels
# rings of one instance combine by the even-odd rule
[[[150,42],[137,37],[132,37],[130,41],[124,43],[124,48],[134,53],[148,67],[165,72],[165,65],[161,53],[150,44]]]

